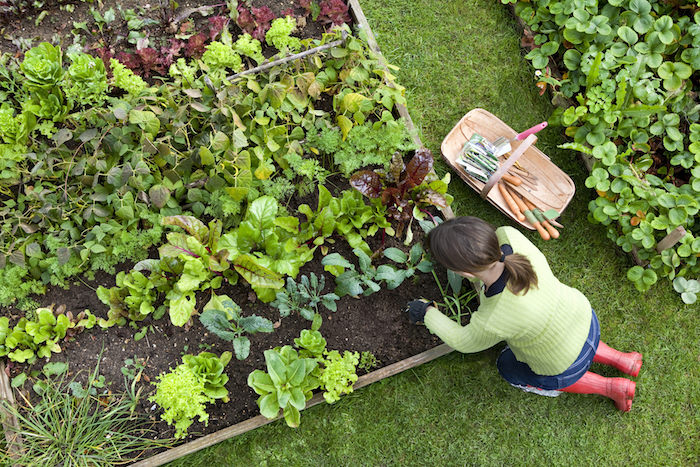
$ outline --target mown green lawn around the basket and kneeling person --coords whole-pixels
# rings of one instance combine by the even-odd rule
[[[553,111],[534,86],[508,9],[495,0],[361,0],[378,43],[406,87],[422,141],[439,155],[442,138],[482,107],[522,131]],[[698,307],[668,282],[640,294],[626,279],[631,259],[587,221],[592,193],[577,155],[557,149],[560,128],[537,146],[575,181],[556,241],[526,232],[562,281],[589,297],[602,337],[644,354],[632,411],[609,399],[551,399],[500,378],[500,347],[453,352],[359,389],[334,405],[302,413],[301,426],[272,423],[219,443],[173,466],[695,466],[700,463]],[[445,165],[436,170],[444,173]],[[495,225],[509,220],[454,177],[458,215]],[[511,224],[512,225],[512,224]],[[522,230],[522,229],[521,229]],[[407,300],[413,297],[406,297]],[[619,372],[594,364],[605,376]],[[235,395],[232,395],[235,397]]]

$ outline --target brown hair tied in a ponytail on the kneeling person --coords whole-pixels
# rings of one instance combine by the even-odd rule
[[[447,269],[475,273],[488,269],[501,259],[496,229],[478,217],[455,217],[428,234],[430,252]],[[537,287],[537,274],[527,257],[514,253],[503,261],[510,274],[508,288],[514,294]]]

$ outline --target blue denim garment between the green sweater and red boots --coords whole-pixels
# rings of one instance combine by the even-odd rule
[[[527,363],[519,362],[510,347],[503,349],[498,356],[496,362],[498,372],[506,381],[517,387],[532,386],[539,389],[559,390],[571,386],[586,374],[598,350],[600,323],[598,323],[595,311],[591,311],[593,317],[591,318],[591,330],[588,333],[588,338],[586,338],[576,361],[563,373],[555,376],[538,375],[530,369]]]

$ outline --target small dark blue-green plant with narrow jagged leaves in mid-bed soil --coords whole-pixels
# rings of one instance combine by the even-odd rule
[[[276,299],[271,305],[279,310],[282,317],[296,312],[302,318],[311,321],[318,313],[319,304],[331,311],[337,310],[335,302],[340,297],[334,293],[322,294],[325,284],[326,278],[321,275],[319,279],[313,272],[310,278],[305,274],[302,275],[298,284],[288,277],[286,290],[277,292]]]

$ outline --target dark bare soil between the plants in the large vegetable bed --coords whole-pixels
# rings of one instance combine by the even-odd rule
[[[329,189],[333,189],[333,187],[329,186]],[[337,196],[337,193],[334,195]],[[294,205],[301,203],[315,206],[317,201],[313,199],[313,196],[293,200]],[[413,228],[416,241],[421,241],[422,233],[418,230],[420,229]],[[394,246],[402,248],[404,251],[407,250],[407,247],[394,237],[386,236],[382,239],[381,233],[378,233],[376,238],[371,238],[369,243],[375,251],[380,250],[382,246],[384,248]],[[355,258],[350,246],[342,238],[338,238],[329,248],[329,253],[333,252],[338,252],[351,261]],[[320,258],[320,252],[317,251],[316,259],[306,264],[302,268],[301,274],[310,276],[311,273],[314,273],[319,277],[324,275],[326,287],[323,293],[329,293],[334,288],[333,276],[323,270]],[[373,264],[379,265],[382,261],[382,259],[377,259]],[[129,267],[130,265],[122,265],[121,269]],[[442,283],[445,284],[446,272],[444,268],[438,266],[436,271]],[[115,285],[114,277],[98,272],[94,280],[76,280],[69,290],[50,288],[45,295],[32,298],[43,306],[65,306],[65,310],[71,311],[74,315],[88,309],[98,317],[106,318],[107,307],[99,301],[95,293],[95,289],[100,285],[113,287]],[[248,374],[254,369],[265,369],[263,355],[265,350],[282,345],[293,345],[294,338],[299,336],[301,330],[311,327],[310,321],[298,315],[290,315],[281,319],[275,308],[255,300],[255,294],[247,285],[224,285],[216,293],[231,297],[234,302],[241,306],[244,315],[263,316],[275,322],[277,328],[271,334],[259,333],[249,336],[251,341],[250,356],[243,361],[233,358],[226,367],[226,373],[229,376],[226,388],[230,394],[230,402],[222,403],[219,401],[215,405],[208,406],[207,411],[210,414],[208,426],[204,427],[201,423],[193,424],[185,441],[202,434],[213,433],[258,415],[257,395],[247,385]],[[371,352],[380,361],[377,368],[381,368],[417,355],[440,343],[424,326],[411,325],[405,312],[406,302],[413,298],[425,297],[431,300],[440,300],[440,295],[440,289],[432,274],[418,273],[417,276],[405,281],[394,290],[382,288],[380,292],[360,299],[343,297],[337,302],[338,310],[336,312],[330,312],[321,306],[319,311],[323,317],[323,325],[320,331],[327,340],[329,350]],[[208,299],[208,294],[200,294],[197,297],[198,309],[201,310]],[[15,317],[22,314],[21,311],[13,307],[5,308],[0,313]],[[71,376],[76,375],[78,380],[83,382],[87,380],[87,376],[99,363],[100,374],[104,375],[105,380],[109,382],[107,389],[113,393],[120,393],[125,389],[124,377],[121,372],[124,360],[134,357],[146,359],[147,365],[140,384],[144,394],[151,394],[155,390],[155,386],[149,384],[149,381],[156,381],[155,378],[160,373],[180,364],[183,354],[198,354],[206,350],[220,355],[227,350],[233,351],[230,343],[208,333],[196,316],[188,324],[191,325],[183,328],[173,326],[167,315],[155,322],[147,319],[139,323],[139,329],[142,329],[143,326],[152,326],[152,331],[147,332],[145,337],[138,341],[135,339],[137,330],[132,327],[114,326],[103,330],[96,326],[92,330],[78,335],[72,341],[61,343],[63,351],[54,354],[51,361],[68,362]],[[44,363],[44,360],[37,362],[33,369],[40,370]],[[27,371],[27,368],[11,365],[10,371],[11,376],[14,376],[20,371]],[[362,373],[364,372],[359,372],[359,374]],[[154,421],[158,422],[156,432],[160,437],[168,438],[174,434],[174,429],[171,426],[160,421],[160,410],[146,398],[142,399],[141,410],[151,414]]]

